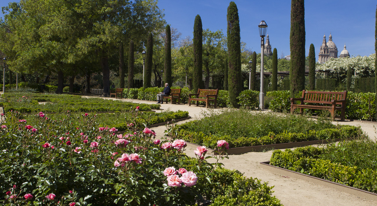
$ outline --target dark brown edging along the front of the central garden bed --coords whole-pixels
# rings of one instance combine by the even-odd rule
[[[296,147],[303,147],[309,145],[319,145],[319,144],[327,144],[330,142],[342,141],[346,139],[329,139],[329,140],[313,140],[313,141],[299,141],[299,142],[289,142],[289,143],[280,143],[280,144],[273,144],[273,145],[258,145],[258,146],[248,146],[248,147],[240,147],[240,148],[230,148],[227,149],[228,155],[240,155],[247,152],[262,152],[264,150],[271,150],[271,149],[288,149],[288,148],[296,148]],[[196,145],[194,143],[190,143],[186,141],[186,143],[194,146],[201,146]],[[208,151],[215,152],[217,150],[207,148]]]

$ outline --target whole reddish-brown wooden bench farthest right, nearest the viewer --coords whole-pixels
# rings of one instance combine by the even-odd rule
[[[299,105],[295,104],[295,101],[300,101]],[[347,102],[347,91],[343,92],[317,92],[317,91],[302,91],[301,98],[291,98],[291,114],[294,109],[300,108],[302,114],[303,109],[326,109],[331,113],[333,120],[335,119],[335,111],[341,111],[340,118],[344,121]],[[305,103],[320,103],[329,104],[331,106],[322,105],[305,105]],[[340,105],[340,106],[339,106]]]

